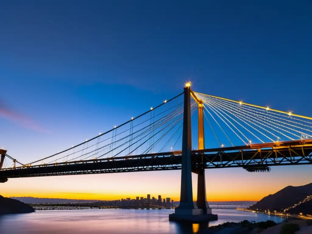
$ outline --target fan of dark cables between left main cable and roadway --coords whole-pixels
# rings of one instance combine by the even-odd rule
[[[25,164],[59,164],[72,161],[100,160],[132,155],[143,155],[181,149],[183,123],[183,93],[162,104],[150,107],[142,115],[130,117],[128,121],[105,133],[56,154]],[[197,109],[192,100],[191,110]]]

